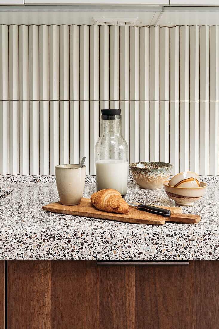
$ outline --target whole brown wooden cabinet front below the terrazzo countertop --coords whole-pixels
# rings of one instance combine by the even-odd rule
[[[218,273],[218,261],[8,261],[8,329],[217,329]]]

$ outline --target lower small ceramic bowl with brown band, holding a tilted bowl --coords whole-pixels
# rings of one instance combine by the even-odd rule
[[[168,185],[169,181],[163,182],[163,187],[170,199],[180,206],[192,206],[195,201],[200,199],[206,190],[207,184],[200,182],[200,187],[183,188]]]

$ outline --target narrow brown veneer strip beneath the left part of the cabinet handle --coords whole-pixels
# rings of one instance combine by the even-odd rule
[[[99,328],[134,328],[134,266],[101,266]]]

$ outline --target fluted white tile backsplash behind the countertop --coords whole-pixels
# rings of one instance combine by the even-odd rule
[[[95,174],[100,110],[130,162],[219,174],[219,26],[0,25],[0,174]]]

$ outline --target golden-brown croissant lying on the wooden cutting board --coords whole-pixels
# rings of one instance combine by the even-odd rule
[[[95,208],[108,213],[127,214],[129,205],[117,190],[105,189],[95,192],[90,197]]]

